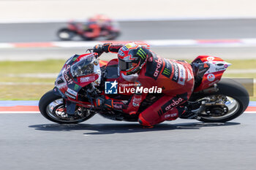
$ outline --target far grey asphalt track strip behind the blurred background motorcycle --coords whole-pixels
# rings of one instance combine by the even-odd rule
[[[66,23],[0,24],[0,42],[58,41]],[[256,19],[120,22],[119,40],[255,38]]]

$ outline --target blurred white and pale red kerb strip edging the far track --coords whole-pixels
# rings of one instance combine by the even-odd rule
[[[93,41],[93,42],[12,42],[0,43],[0,49],[5,48],[32,48],[32,47],[89,47],[105,42],[125,44],[130,41]],[[256,39],[146,39],[151,47],[256,47]]]

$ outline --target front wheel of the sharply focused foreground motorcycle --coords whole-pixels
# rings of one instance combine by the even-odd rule
[[[94,112],[86,112],[83,107],[77,107],[75,115],[67,115],[65,111],[65,101],[61,96],[57,96],[53,90],[45,93],[39,100],[39,111],[48,120],[55,123],[81,123],[94,116]]]

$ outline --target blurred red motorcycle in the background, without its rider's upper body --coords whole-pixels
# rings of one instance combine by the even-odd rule
[[[97,23],[78,23],[70,21],[67,28],[60,28],[57,31],[57,36],[61,40],[70,41],[75,36],[80,36],[81,39],[89,41],[99,37],[104,37],[107,40],[116,39],[120,35],[118,23],[111,21],[108,26],[99,26]]]

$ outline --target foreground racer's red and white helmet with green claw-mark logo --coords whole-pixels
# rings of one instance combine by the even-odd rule
[[[149,45],[130,42],[118,50],[118,66],[124,75],[135,74],[146,64]]]

